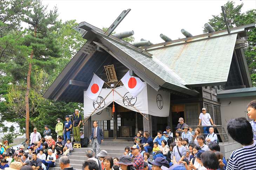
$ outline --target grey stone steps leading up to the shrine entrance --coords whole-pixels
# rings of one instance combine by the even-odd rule
[[[124,153],[124,148],[126,146],[132,147],[133,142],[128,142],[127,140],[113,140],[113,139],[106,139],[101,144],[101,150],[104,149],[108,152],[108,156],[111,157],[120,157]],[[90,147],[92,149],[92,145]],[[85,156],[85,151],[88,148],[74,148],[74,152],[71,153],[69,157],[70,159],[70,165],[76,169],[81,170],[82,169],[82,163],[86,161],[88,158]],[[60,155],[61,157],[61,155]],[[50,168],[50,170],[60,170],[60,163],[59,159],[56,160],[56,166],[54,168]]]

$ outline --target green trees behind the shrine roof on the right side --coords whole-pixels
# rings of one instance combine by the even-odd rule
[[[255,23],[256,9],[251,9],[245,13],[241,13],[243,3],[238,6],[234,6],[234,4],[235,2],[228,1],[224,5],[230,28]],[[213,18],[209,20],[209,24],[215,29],[215,31],[226,29],[222,13],[220,13],[220,15],[213,15]],[[203,31],[207,32],[206,29]],[[244,49],[244,53],[253,86],[256,87],[256,28],[247,30],[247,35],[248,47]]]

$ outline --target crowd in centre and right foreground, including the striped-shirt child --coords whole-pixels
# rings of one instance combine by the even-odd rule
[[[256,100],[247,106],[246,118],[231,119],[228,133],[242,148],[233,151],[227,159],[220,152],[213,121],[206,109],[202,109],[199,127],[193,128],[179,119],[175,131],[175,140],[170,127],[158,131],[152,139],[149,132],[139,131],[134,137],[134,145],[125,147],[120,158],[110,157],[106,150],[95,154],[87,150],[88,160],[83,170],[254,170],[256,169]],[[213,126],[211,126],[211,124]],[[150,158],[152,155],[153,158]]]

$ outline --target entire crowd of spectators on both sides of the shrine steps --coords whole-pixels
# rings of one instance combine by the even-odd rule
[[[111,157],[106,150],[100,150],[100,142],[103,141],[102,130],[97,127],[96,121],[91,142],[93,149],[87,149],[85,155],[88,160],[82,165],[83,170],[253,170],[256,169],[256,100],[247,106],[248,117],[235,118],[228,122],[227,130],[231,138],[242,145],[242,148],[233,151],[228,162],[220,152],[217,135],[210,116],[205,108],[200,114],[199,124],[202,123],[203,135],[200,128],[189,127],[184,119],[179,119],[176,127],[175,139],[170,127],[167,126],[164,132],[158,131],[154,139],[149,132],[139,131],[134,137],[134,145],[125,147],[123,156]],[[208,119],[208,121],[206,120]],[[66,119],[66,121],[69,121]],[[60,123],[58,121],[58,123]],[[73,122],[74,123],[74,122]],[[67,128],[72,124],[67,124]],[[73,124],[74,125],[74,124]],[[79,124],[77,124],[79,125]],[[213,126],[215,126],[213,124]],[[65,128],[66,128],[65,127]],[[48,170],[55,167],[59,154],[60,168],[62,170],[73,170],[70,160],[66,156],[67,150],[72,150],[72,144],[68,136],[62,139],[58,136],[57,142],[50,136],[51,131],[45,126],[44,137],[38,134],[34,128],[31,140],[26,139],[15,153],[10,157],[8,141],[4,145],[0,143],[1,165],[0,169],[5,170]],[[64,132],[65,133],[65,132]],[[61,134],[61,133],[59,133]],[[34,139],[35,138],[35,139]],[[41,138],[41,139],[39,139]],[[76,138],[76,141],[79,139]],[[6,144],[7,143],[7,144]],[[152,157],[150,157],[152,155]]]

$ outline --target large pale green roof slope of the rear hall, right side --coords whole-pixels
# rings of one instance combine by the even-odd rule
[[[186,81],[185,85],[226,82],[236,37],[226,34],[148,52]]]

